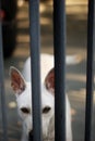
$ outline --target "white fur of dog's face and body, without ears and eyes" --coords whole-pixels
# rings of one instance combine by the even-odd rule
[[[28,132],[33,130],[33,114],[32,114],[32,97],[31,97],[31,65],[29,59],[27,59],[23,76],[26,80],[26,88],[21,94],[16,95],[16,103],[19,108],[20,117],[23,121],[23,136],[22,141],[28,141]],[[69,61],[68,61],[69,64]],[[47,114],[41,113],[41,124],[43,124],[43,139],[52,139],[55,138],[55,97],[48,91],[44,85],[44,79],[47,76],[48,72],[54,67],[54,57],[52,55],[43,54],[41,55],[41,111],[45,106],[51,107],[50,112]],[[71,131],[71,115],[70,115],[70,103],[68,95],[66,94],[66,128],[67,128],[67,141],[72,141],[72,131]],[[21,108],[29,107],[31,113],[24,114]]]

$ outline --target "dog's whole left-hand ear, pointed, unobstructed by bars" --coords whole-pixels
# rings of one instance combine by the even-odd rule
[[[11,87],[13,91],[17,94],[21,94],[26,88],[26,84],[23,76],[13,66],[10,67],[10,76],[11,76]]]

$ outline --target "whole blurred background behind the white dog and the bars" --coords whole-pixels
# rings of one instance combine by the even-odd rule
[[[84,141],[87,0],[66,0],[66,11],[67,54],[76,56],[75,64],[68,65],[66,74],[67,91],[72,107],[73,141]],[[54,53],[52,12],[52,0],[40,0],[41,53]],[[17,116],[15,97],[10,87],[9,67],[12,65],[22,70],[24,62],[29,55],[28,0],[3,0],[0,15],[2,17],[9,141],[19,141],[21,139],[22,126]],[[95,99],[93,107],[92,141],[95,141]],[[2,116],[0,114],[1,139]]]

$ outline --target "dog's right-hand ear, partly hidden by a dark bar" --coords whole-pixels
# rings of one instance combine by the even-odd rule
[[[55,93],[55,68],[50,69],[45,78],[45,86],[48,91]]]

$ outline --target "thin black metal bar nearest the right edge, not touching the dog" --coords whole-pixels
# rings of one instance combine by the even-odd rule
[[[95,0],[88,0],[85,141],[91,141],[94,84]]]

